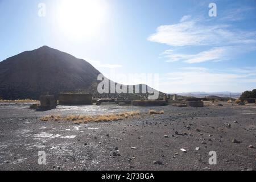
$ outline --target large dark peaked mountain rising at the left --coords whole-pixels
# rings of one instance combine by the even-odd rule
[[[39,99],[42,94],[57,96],[61,92],[92,93],[97,98],[118,97],[120,94],[98,94],[99,74],[85,60],[43,46],[0,62],[0,97]]]

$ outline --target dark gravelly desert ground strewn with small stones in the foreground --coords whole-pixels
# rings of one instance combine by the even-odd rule
[[[217,104],[36,111],[31,103],[2,102],[0,170],[255,170],[256,105]],[[148,114],[150,109],[164,114]],[[140,115],[123,120],[79,125],[40,119],[137,110]],[[38,163],[40,151],[46,153],[45,165]],[[208,162],[210,151],[216,151],[216,165]]]

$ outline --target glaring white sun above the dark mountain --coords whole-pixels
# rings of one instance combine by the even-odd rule
[[[104,21],[105,7],[99,0],[63,0],[57,10],[61,30],[72,38],[94,35]]]

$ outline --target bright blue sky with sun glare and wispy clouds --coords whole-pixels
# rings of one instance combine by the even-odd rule
[[[121,84],[256,88],[254,0],[0,0],[0,24],[0,61],[46,45]]]

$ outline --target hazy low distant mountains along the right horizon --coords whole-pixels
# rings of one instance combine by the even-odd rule
[[[183,92],[183,93],[176,93],[180,96],[187,96],[187,97],[209,97],[209,96],[217,96],[217,97],[232,97],[232,98],[239,98],[242,93],[238,92]]]

